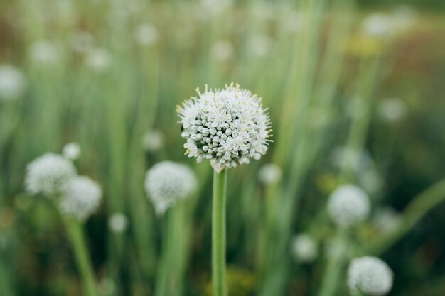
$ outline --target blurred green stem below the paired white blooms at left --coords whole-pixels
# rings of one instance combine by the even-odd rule
[[[77,268],[79,268],[80,275],[82,276],[83,293],[85,296],[98,296],[95,276],[88,256],[82,225],[74,219],[62,219],[71,243],[71,248],[73,248]]]

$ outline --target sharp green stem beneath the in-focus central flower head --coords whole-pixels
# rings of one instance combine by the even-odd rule
[[[227,169],[213,172],[212,287],[213,296],[227,296],[225,280],[225,198]]]

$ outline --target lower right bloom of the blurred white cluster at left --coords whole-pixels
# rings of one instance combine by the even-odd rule
[[[78,221],[88,219],[99,207],[102,190],[89,177],[73,177],[58,200],[60,213]]]

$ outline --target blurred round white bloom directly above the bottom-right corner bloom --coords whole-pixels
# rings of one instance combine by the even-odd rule
[[[353,226],[370,213],[368,195],[355,185],[341,185],[328,199],[328,214],[340,227]]]

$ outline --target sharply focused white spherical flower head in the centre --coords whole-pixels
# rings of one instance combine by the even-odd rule
[[[270,119],[261,99],[233,84],[198,91],[178,107],[188,157],[211,160],[216,170],[259,160],[267,152]]]

